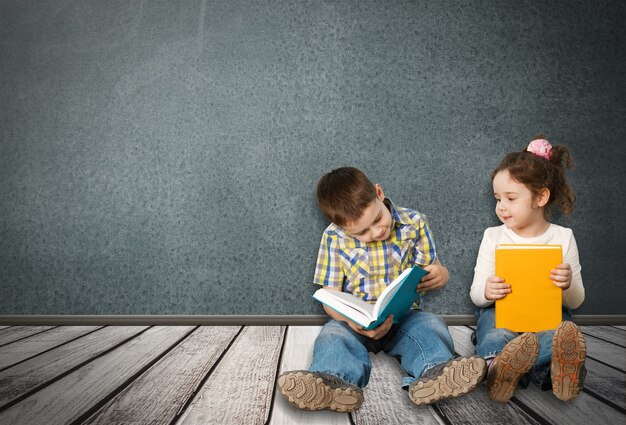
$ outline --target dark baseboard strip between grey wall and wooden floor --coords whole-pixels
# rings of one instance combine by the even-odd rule
[[[475,325],[474,315],[442,315],[449,326]],[[0,325],[168,325],[168,326],[319,326],[325,315],[15,315],[0,316]],[[574,315],[583,326],[626,325],[626,315]]]

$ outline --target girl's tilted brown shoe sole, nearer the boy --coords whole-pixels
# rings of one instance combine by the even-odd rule
[[[520,378],[535,365],[538,355],[539,339],[534,333],[523,333],[510,340],[489,365],[489,398],[500,403],[509,401]]]

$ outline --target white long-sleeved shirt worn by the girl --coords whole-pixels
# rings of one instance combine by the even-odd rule
[[[580,274],[580,262],[578,259],[578,247],[572,229],[550,224],[548,230],[543,234],[524,238],[517,235],[504,224],[496,227],[489,227],[485,230],[483,240],[478,250],[476,267],[474,268],[474,281],[470,290],[470,297],[476,306],[486,307],[492,304],[493,300],[485,298],[485,284],[489,276],[496,273],[495,250],[498,244],[554,244],[563,247],[563,262],[572,267],[572,284],[563,291],[563,305],[567,308],[578,308],[585,300],[585,288],[583,278]],[[555,264],[556,266],[556,264]]]

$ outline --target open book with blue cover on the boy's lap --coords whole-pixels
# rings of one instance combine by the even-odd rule
[[[374,329],[390,314],[393,314],[394,322],[398,322],[410,310],[413,303],[420,298],[417,285],[427,273],[418,266],[406,269],[385,288],[375,304],[363,301],[348,292],[325,288],[315,291],[313,298],[365,329]]]

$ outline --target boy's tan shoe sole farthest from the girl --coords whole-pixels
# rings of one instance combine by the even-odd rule
[[[363,390],[327,373],[294,370],[278,377],[289,403],[303,410],[352,412],[363,404]]]

